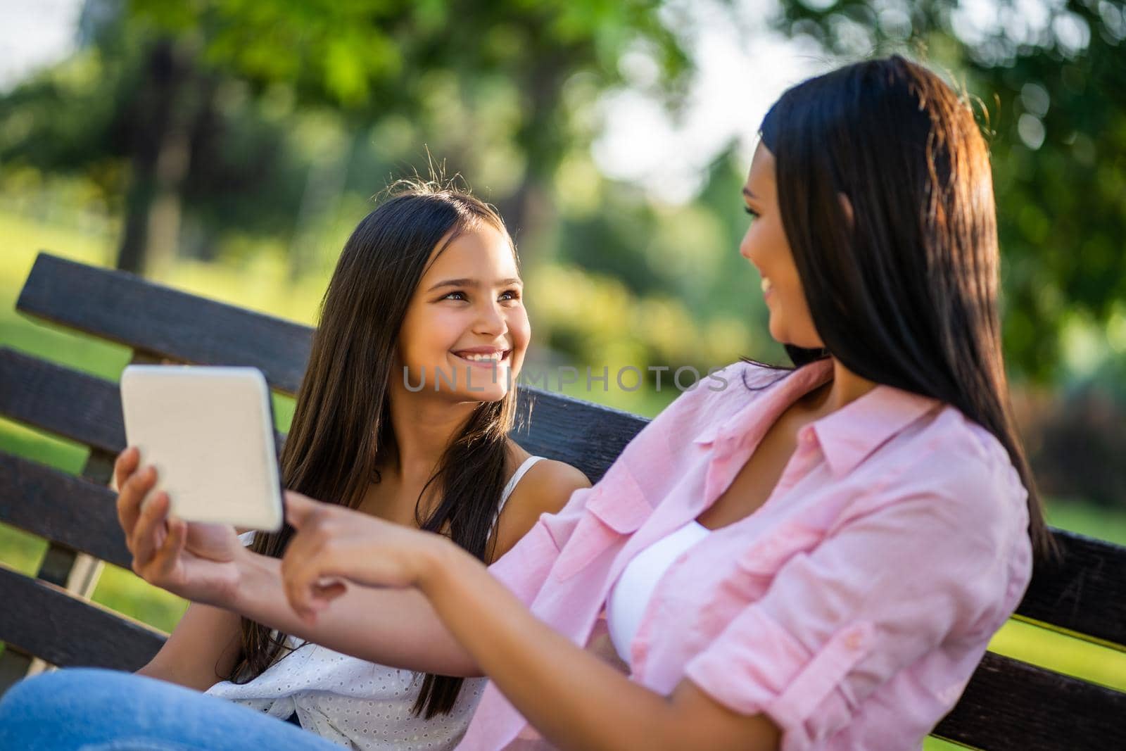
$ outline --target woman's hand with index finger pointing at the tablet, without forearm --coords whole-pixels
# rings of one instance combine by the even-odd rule
[[[312,623],[343,594],[346,581],[367,587],[419,587],[448,540],[360,511],[286,491],[286,521],[297,534],[282,558],[293,609]]]

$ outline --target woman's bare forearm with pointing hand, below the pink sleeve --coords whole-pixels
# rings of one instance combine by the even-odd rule
[[[670,697],[632,682],[538,620],[445,537],[360,519],[296,494],[287,497],[287,512],[298,534],[283,560],[283,576],[303,618],[321,623],[336,614],[339,585],[318,584],[327,576],[415,588],[484,674],[561,749],[778,745],[770,719],[736,714],[688,681]]]

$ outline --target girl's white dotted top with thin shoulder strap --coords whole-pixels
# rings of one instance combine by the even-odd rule
[[[517,483],[542,458],[530,456],[517,468],[501,493],[498,518]],[[253,533],[239,537],[249,545]],[[465,734],[488,680],[466,678],[453,710],[426,719],[411,713],[422,687],[420,673],[301,644],[289,636],[286,645],[294,651],[262,674],[241,686],[215,683],[207,694],[282,719],[296,712],[302,727],[347,749],[446,750]]]

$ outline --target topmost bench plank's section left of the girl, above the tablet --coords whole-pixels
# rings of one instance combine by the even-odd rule
[[[309,327],[189,295],[137,276],[39,253],[19,295],[21,313],[195,365],[249,365],[296,393]]]

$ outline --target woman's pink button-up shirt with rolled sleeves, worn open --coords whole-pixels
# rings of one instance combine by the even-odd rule
[[[629,558],[707,509],[832,366],[721,375],[725,388],[705,379],[682,394],[492,565],[575,644],[605,633]],[[1025,592],[1027,526],[1026,491],[992,435],[877,386],[803,428],[763,506],[677,558],[632,643],[632,680],[662,695],[690,680],[765,713],[787,751],[918,749]],[[458,748],[546,748],[537,739],[490,683]]]

